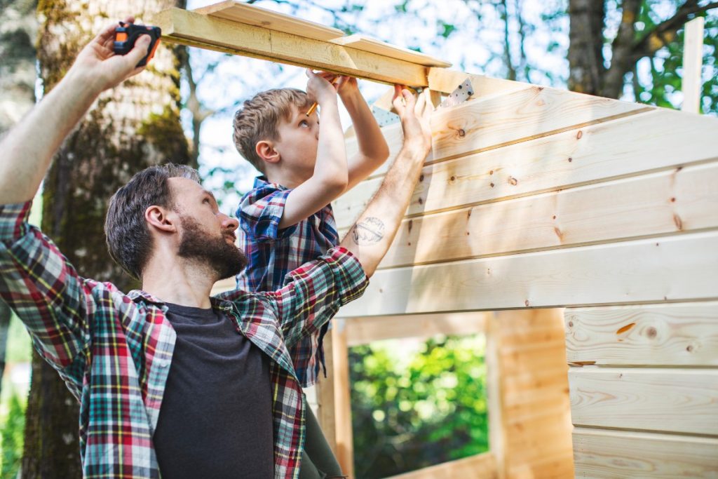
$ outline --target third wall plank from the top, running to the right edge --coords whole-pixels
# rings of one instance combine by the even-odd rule
[[[712,162],[406,218],[380,267],[717,228],[717,184],[718,162]]]

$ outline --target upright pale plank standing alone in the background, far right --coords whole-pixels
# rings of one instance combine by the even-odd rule
[[[683,78],[681,79],[683,106],[681,106],[681,110],[687,113],[701,111],[704,22],[703,17],[697,17],[685,25],[686,39],[683,48]]]

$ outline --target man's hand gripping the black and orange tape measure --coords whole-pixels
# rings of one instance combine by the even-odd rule
[[[125,22],[133,23],[134,18],[128,17]],[[117,23],[108,25],[78,55],[68,75],[83,78],[86,85],[99,93],[113,88],[123,80],[137,75],[144,67],[136,68],[145,55],[150,43],[149,35],[141,35],[134,48],[127,55],[115,55],[113,45]]]

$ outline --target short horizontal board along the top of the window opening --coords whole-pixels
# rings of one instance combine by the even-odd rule
[[[348,347],[400,338],[431,338],[436,335],[474,335],[486,329],[488,313],[449,315],[353,317],[343,322]]]

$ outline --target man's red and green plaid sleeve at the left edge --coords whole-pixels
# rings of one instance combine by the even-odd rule
[[[55,243],[27,223],[30,205],[0,205],[0,297],[38,352],[62,371],[90,342],[86,318],[94,299]]]

